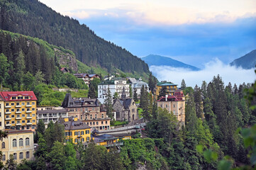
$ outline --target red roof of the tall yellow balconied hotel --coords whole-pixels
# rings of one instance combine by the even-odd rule
[[[37,101],[33,91],[0,91],[0,95],[5,101]],[[13,96],[29,96],[30,99],[11,99]]]

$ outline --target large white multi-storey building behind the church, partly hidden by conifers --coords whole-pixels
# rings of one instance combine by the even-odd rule
[[[111,96],[113,98],[113,95],[117,92],[118,98],[121,98],[123,87],[126,91],[126,96],[130,97],[130,89],[129,84],[126,83],[126,79],[121,78],[113,78],[108,79],[105,81],[102,81],[100,84],[98,84],[98,99],[101,103],[104,103],[106,99],[106,95],[108,94],[108,88],[111,92]]]

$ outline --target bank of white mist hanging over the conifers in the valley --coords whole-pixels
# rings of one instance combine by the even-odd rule
[[[206,63],[204,69],[200,71],[177,69],[168,66],[151,66],[150,71],[159,81],[172,81],[174,84],[180,86],[182,79],[184,79],[187,86],[192,86],[193,88],[196,84],[201,86],[202,81],[210,82],[218,74],[222,77],[226,85],[229,82],[232,85],[243,84],[243,82],[247,84],[254,82],[256,79],[254,69],[231,67],[230,65],[223,64],[218,59]]]

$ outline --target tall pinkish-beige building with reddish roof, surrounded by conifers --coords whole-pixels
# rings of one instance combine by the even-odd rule
[[[173,113],[181,125],[185,125],[185,96],[183,91],[174,91],[173,96],[165,96],[157,101],[157,107]]]

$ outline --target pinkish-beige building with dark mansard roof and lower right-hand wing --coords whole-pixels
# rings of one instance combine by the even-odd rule
[[[72,98],[70,94],[66,94],[62,107],[69,111],[69,116],[79,118],[92,129],[100,131],[110,128],[110,118],[106,111],[101,111],[96,98]]]

